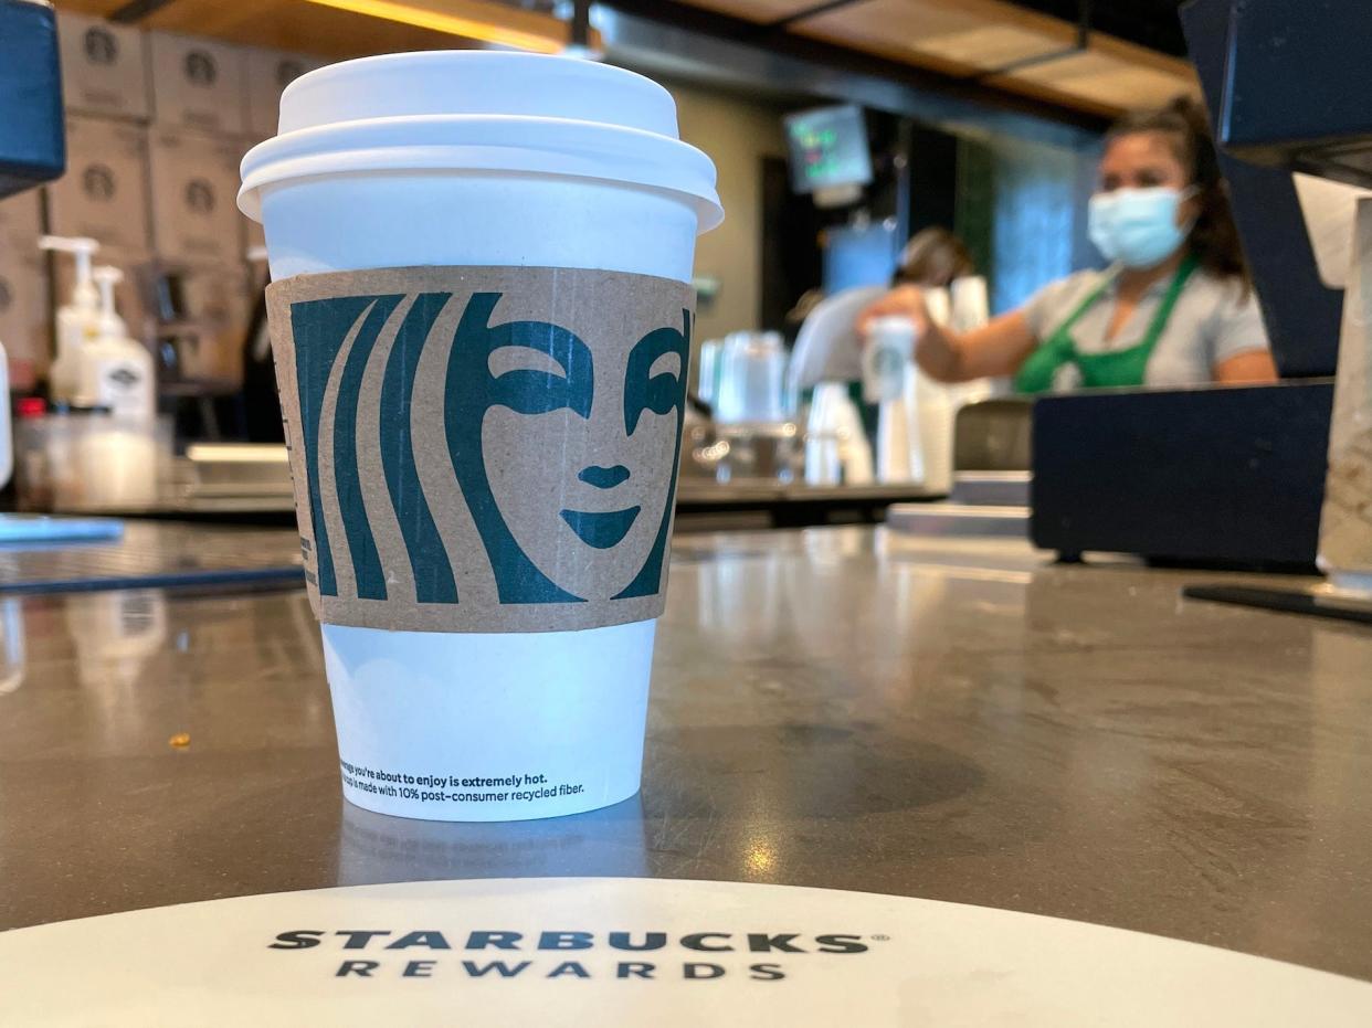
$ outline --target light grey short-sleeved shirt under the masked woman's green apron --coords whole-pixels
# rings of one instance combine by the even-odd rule
[[[1118,269],[1077,271],[1051,282],[1034,293],[1024,307],[1025,321],[1040,343],[1077,310],[1091,291],[1109,278],[1111,282],[1091,308],[1072,326],[1072,339],[1081,354],[1104,354],[1128,350],[1143,341],[1152,315],[1172,284],[1170,278],[1154,282],[1115,337],[1106,340],[1114,315],[1114,277]],[[1144,385],[1176,387],[1214,381],[1214,366],[1236,354],[1269,350],[1262,313],[1251,286],[1238,278],[1218,278],[1196,269],[1191,273],[1172,317],[1148,358]],[[1058,369],[1055,389],[1080,384],[1080,371],[1072,365]]]

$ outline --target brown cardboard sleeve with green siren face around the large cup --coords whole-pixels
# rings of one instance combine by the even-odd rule
[[[690,286],[420,267],[269,297],[322,621],[554,631],[661,613]]]

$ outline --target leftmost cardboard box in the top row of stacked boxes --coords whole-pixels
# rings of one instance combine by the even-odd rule
[[[99,18],[58,14],[62,99],[69,111],[148,119],[148,70],[143,33]]]

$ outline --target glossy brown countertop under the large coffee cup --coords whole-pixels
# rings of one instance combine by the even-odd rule
[[[1372,635],[1183,602],[1191,580],[881,529],[679,539],[642,795],[517,825],[342,803],[303,593],[11,599],[0,928],[650,874],[1029,910],[1372,979]]]

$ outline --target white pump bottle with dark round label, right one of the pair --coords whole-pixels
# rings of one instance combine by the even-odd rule
[[[92,277],[100,291],[100,308],[96,337],[80,352],[77,402],[151,422],[156,415],[152,354],[136,339],[129,339],[123,319],[114,310],[114,286],[123,280],[123,271],[102,266]]]

